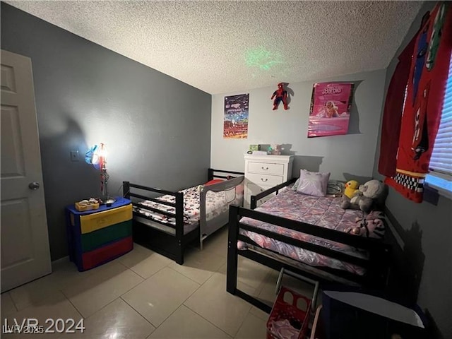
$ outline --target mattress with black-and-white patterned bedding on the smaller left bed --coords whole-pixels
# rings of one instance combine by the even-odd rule
[[[194,230],[199,226],[200,218],[200,191],[202,185],[190,187],[189,189],[183,189],[179,191],[184,194],[184,234]],[[227,213],[230,204],[241,204],[243,194],[236,194],[236,188],[228,189],[226,191],[214,192],[208,191],[206,194],[206,220],[212,220],[213,218],[221,215],[222,213]],[[165,201],[169,203],[175,203],[176,198],[171,195],[159,196],[156,198],[160,201]],[[176,208],[172,206],[167,206],[162,203],[155,203],[154,201],[141,201],[138,203],[140,206],[134,206],[134,211],[142,215],[152,218],[157,222],[152,222],[151,220],[145,218],[136,218],[136,220],[144,222],[150,226],[160,228],[160,230],[166,230],[167,232],[172,232],[174,234],[174,226],[176,225],[175,218],[169,217],[168,215],[162,213],[156,213],[153,210],[147,209],[147,207],[157,208],[169,213],[176,213]],[[148,222],[150,221],[150,222]],[[162,225],[164,224],[164,225]],[[172,225],[165,227],[165,224]]]

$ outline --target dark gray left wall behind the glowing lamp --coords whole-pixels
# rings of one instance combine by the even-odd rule
[[[123,180],[179,189],[207,179],[208,93],[4,3],[1,49],[32,60],[52,260],[67,255],[64,206],[100,194],[90,145],[107,144],[112,195]]]

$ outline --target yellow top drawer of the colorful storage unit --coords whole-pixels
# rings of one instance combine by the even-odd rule
[[[124,222],[131,220],[132,218],[132,205],[122,206],[119,208],[113,208],[112,210],[105,210],[104,212],[98,212],[88,215],[81,215],[80,228],[81,234],[100,230],[103,227],[108,227],[118,222]]]

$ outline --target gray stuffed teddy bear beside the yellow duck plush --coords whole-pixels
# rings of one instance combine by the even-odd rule
[[[385,196],[385,191],[385,184],[379,180],[370,180],[364,185],[359,185],[359,190],[355,192],[351,199],[344,195],[341,207],[369,213],[375,204],[381,203]]]

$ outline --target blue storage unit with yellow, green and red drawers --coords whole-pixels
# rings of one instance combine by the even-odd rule
[[[78,211],[66,208],[69,258],[78,270],[89,270],[133,249],[132,205],[117,198],[112,206]]]

